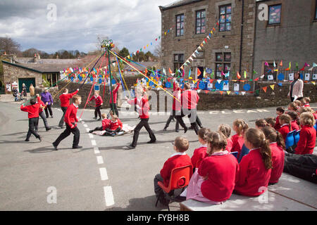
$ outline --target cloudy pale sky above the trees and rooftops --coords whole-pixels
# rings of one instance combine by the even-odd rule
[[[18,41],[23,51],[33,47],[47,53],[92,51],[97,37],[110,37],[132,53],[161,35],[159,6],[174,1],[0,0],[0,36]]]

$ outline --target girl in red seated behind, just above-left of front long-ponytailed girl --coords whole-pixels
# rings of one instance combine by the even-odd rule
[[[237,119],[233,122],[233,130],[237,133],[231,137],[232,148],[228,149],[229,152],[238,152],[237,158],[240,157],[242,146],[244,144],[244,132],[247,131],[249,125],[242,119]]]

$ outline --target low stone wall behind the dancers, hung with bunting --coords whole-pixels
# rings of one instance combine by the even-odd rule
[[[135,84],[135,78],[126,79],[126,82],[128,82],[129,89],[131,89],[131,86]],[[63,86],[65,86],[67,82],[61,82],[59,83],[58,89],[62,89]],[[270,85],[275,84],[275,89],[271,89]],[[68,89],[70,91],[75,91],[80,84],[74,84],[70,83],[68,84]],[[205,93],[204,91],[201,91],[199,93],[200,101],[197,105],[198,110],[220,110],[220,109],[240,109],[240,108],[263,108],[263,107],[274,107],[274,106],[282,106],[287,105],[290,103],[290,100],[287,98],[287,93],[290,89],[290,82],[282,82],[282,86],[278,86],[277,83],[273,82],[256,82],[255,84],[256,89],[260,89],[259,96],[256,96],[254,94],[247,93],[244,96],[242,94],[236,95],[235,93],[231,93],[230,95],[223,92],[223,95],[219,93],[219,91],[209,91],[208,93]],[[262,87],[268,86],[268,89],[266,92],[263,91]],[[89,91],[92,88],[92,84],[85,84],[82,86],[82,89],[79,91],[79,95],[82,96],[82,105],[80,105],[80,108],[83,108],[85,106],[85,103],[87,101],[87,96],[89,95]],[[120,90],[121,89],[121,90]],[[119,98],[123,98],[122,96],[122,88],[119,89]],[[104,87],[101,87],[101,96],[103,94]],[[107,89],[106,89],[107,91]],[[170,92],[170,90],[168,90]],[[171,101],[172,97],[166,94],[165,91],[157,91],[154,90],[155,96],[152,95],[152,99],[150,101],[151,103],[151,109],[157,112],[160,111],[170,111],[171,110]],[[92,93],[93,94],[93,93]],[[59,96],[59,94],[58,94]],[[55,96],[55,106],[59,104],[58,96]],[[304,96],[309,96],[311,98],[311,102],[317,102],[317,86],[313,84],[304,84]],[[163,99],[163,101],[162,101]],[[123,101],[118,101],[120,102]],[[105,99],[104,99],[105,105],[104,108],[108,108],[108,102],[109,102],[109,94],[106,92]],[[160,103],[164,105],[160,105]],[[94,103],[92,103],[94,105]],[[87,108],[93,108],[93,107],[87,107]],[[157,109],[157,110],[156,110]]]

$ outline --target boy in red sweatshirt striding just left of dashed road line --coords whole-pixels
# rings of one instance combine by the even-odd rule
[[[57,146],[63,139],[66,139],[70,135],[70,133],[74,134],[74,139],[73,139],[73,149],[76,148],[82,148],[82,146],[78,146],[78,143],[80,141],[80,130],[77,128],[77,109],[78,105],[82,103],[82,97],[75,95],[73,96],[73,104],[69,105],[66,113],[65,113],[65,123],[66,123],[66,130],[61,133],[60,136],[56,139],[56,141],[53,142],[53,146],[55,150],[57,149]]]

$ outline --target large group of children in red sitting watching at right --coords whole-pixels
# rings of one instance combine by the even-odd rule
[[[313,153],[316,143],[314,112],[307,102],[301,104],[287,113],[278,108],[276,119],[256,120],[256,128],[249,128],[247,122],[237,119],[233,122],[236,134],[231,137],[228,124],[220,124],[218,131],[200,129],[198,139],[201,146],[194,150],[191,160],[185,153],[189,148],[187,139],[176,138],[176,153],[164,163],[160,174],[154,178],[156,197],[163,205],[168,204],[158,182],[162,181],[168,186],[172,169],[185,165],[192,165],[194,169],[189,185],[182,193],[187,200],[220,204],[228,200],[232,193],[246,196],[263,194],[268,185],[277,184],[282,176],[287,153],[285,138],[292,127],[301,129],[295,152]],[[290,104],[290,108],[293,106]]]

